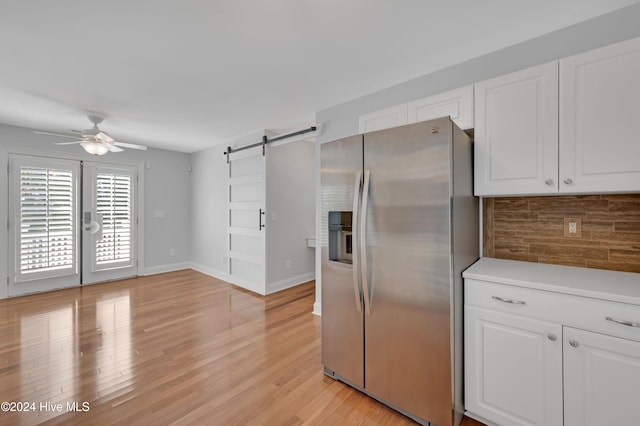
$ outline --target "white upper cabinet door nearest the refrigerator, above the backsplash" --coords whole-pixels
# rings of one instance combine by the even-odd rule
[[[558,191],[558,65],[475,85],[475,195]]]

